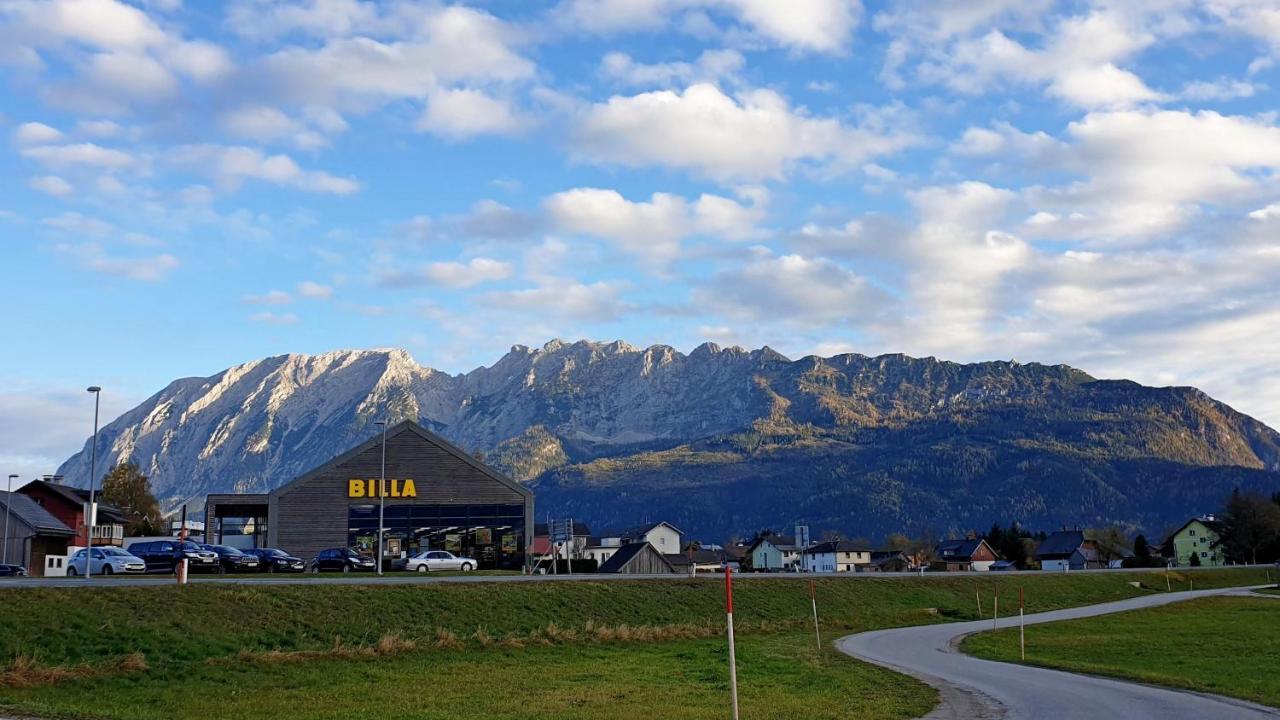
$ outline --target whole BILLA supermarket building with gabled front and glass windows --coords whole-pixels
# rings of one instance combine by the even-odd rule
[[[210,495],[205,542],[321,550],[378,548],[381,433],[266,495]],[[534,495],[417,423],[387,429],[385,555],[447,550],[481,569],[518,570],[534,534]],[[247,533],[247,534],[242,534]]]

